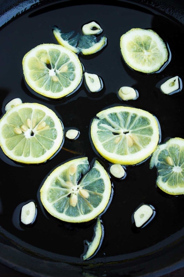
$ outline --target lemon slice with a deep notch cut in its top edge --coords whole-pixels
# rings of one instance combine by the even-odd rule
[[[104,167],[95,160],[89,171],[86,157],[57,167],[40,189],[45,209],[54,217],[79,223],[104,211],[111,194],[111,182]]]

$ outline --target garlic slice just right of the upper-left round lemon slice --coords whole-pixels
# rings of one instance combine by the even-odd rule
[[[84,73],[86,85],[88,86],[91,92],[98,92],[102,89],[102,80],[98,77],[97,74]]]

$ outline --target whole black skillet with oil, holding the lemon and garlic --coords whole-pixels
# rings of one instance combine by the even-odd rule
[[[41,43],[56,43],[52,25],[67,32],[80,31],[82,24],[96,20],[108,38],[99,53],[82,57],[86,71],[100,75],[105,86],[99,94],[89,94],[84,83],[79,90],[58,101],[48,100],[26,86],[22,74],[23,55]],[[183,196],[171,197],[155,187],[156,170],[149,170],[149,159],[127,167],[121,182],[114,180],[111,203],[101,216],[104,240],[98,253],[82,262],[83,241],[91,240],[95,220],[86,224],[67,224],[48,215],[39,199],[39,188],[48,173],[59,163],[76,155],[87,155],[90,162],[100,159],[89,140],[90,120],[101,109],[112,104],[123,105],[117,89],[126,84],[139,91],[139,98],[126,102],[153,113],[161,126],[160,141],[182,137],[183,92],[164,95],[159,83],[178,75],[184,80],[182,1],[1,1],[1,104],[14,97],[39,102],[53,108],[65,129],[79,128],[81,135],[63,148],[46,164],[22,166],[6,158],[1,151],[0,189],[0,261],[30,276],[161,276],[184,266]],[[125,65],[119,49],[119,38],[132,27],[152,28],[160,34],[170,50],[166,68],[154,74],[141,74]],[[13,62],[13,69],[10,70]],[[13,70],[13,71],[12,71]],[[8,72],[11,71],[11,82]],[[13,74],[12,74],[13,72]],[[12,77],[13,76],[13,77]],[[84,116],[85,113],[85,116]],[[18,176],[18,179],[17,179]],[[21,176],[21,178],[20,178]],[[149,187],[148,187],[149,186]],[[19,222],[19,212],[28,200],[37,202],[33,226]],[[141,203],[155,207],[154,219],[144,228],[131,222],[133,211]]]

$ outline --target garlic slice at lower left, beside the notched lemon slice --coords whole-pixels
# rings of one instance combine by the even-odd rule
[[[21,209],[21,222],[23,224],[31,224],[36,214],[36,206],[33,201],[25,204]]]

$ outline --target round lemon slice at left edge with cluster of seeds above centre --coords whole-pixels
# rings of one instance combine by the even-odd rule
[[[57,115],[37,103],[22,103],[0,120],[3,152],[20,163],[43,163],[61,146],[63,127]]]

